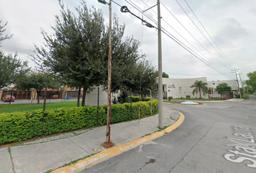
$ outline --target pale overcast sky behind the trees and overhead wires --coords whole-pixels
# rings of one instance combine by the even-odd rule
[[[63,0],[66,6],[74,11],[74,6],[79,6],[80,1]],[[108,0],[107,0],[108,1]],[[142,18],[142,13],[137,9],[148,9],[156,4],[156,0],[115,0],[121,6]],[[197,25],[203,36],[187,14]],[[196,55],[204,58],[208,65],[193,56],[178,45],[170,37],[162,33],[163,71],[169,78],[194,78],[206,76],[208,81],[235,79],[231,69],[239,68],[242,79],[247,79],[246,74],[256,71],[256,1],[255,0],[162,0],[161,24],[171,35],[178,38]],[[127,3],[127,2],[130,2]],[[131,4],[134,3],[137,9]],[[90,8],[102,9],[108,23],[108,5],[100,4],[97,0],[86,1]],[[202,23],[213,38],[204,30]],[[155,68],[158,68],[158,35],[157,30],[141,25],[140,19],[129,13],[121,13],[120,7],[112,2],[112,12],[119,17],[119,24],[125,24],[125,35],[133,35],[140,40],[141,49],[147,55]],[[145,12],[157,21],[157,6]],[[51,34],[51,26],[55,26],[55,15],[60,14],[58,0],[0,0],[1,25],[8,22],[4,34],[12,35],[10,40],[4,40],[1,50],[4,53],[17,52],[19,57],[30,62],[28,54],[35,45],[43,45],[44,40],[40,28]],[[175,19],[175,18],[176,19]],[[143,17],[147,22],[155,23]],[[182,25],[184,26],[182,26]],[[175,31],[176,30],[176,31]],[[189,32],[187,32],[189,31]],[[177,33],[178,32],[178,33]],[[205,37],[207,37],[206,40]],[[186,39],[186,40],[184,40]],[[196,40],[195,40],[196,39]],[[221,50],[219,50],[220,48]],[[218,51],[216,51],[218,50]],[[218,68],[213,70],[210,66]],[[220,74],[227,73],[229,77]]]

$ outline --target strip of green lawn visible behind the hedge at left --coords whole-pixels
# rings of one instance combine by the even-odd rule
[[[80,102],[81,105],[81,102]],[[77,102],[46,102],[46,109],[53,109],[59,107],[76,107]],[[40,104],[11,104],[11,105],[0,105],[0,113],[4,112],[21,112],[21,111],[33,111],[33,110],[43,110],[43,103]]]

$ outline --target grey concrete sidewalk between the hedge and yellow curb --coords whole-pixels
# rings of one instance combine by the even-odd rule
[[[176,110],[163,107],[164,126],[172,125],[179,117],[180,113]],[[111,125],[111,141],[115,146],[126,145],[126,147],[128,146],[129,148],[129,145],[132,145],[132,147],[135,147],[137,144],[134,145],[131,141],[136,141],[138,138],[147,136],[158,130],[158,115],[146,117],[140,120],[140,123],[134,120],[127,123],[114,124]],[[149,136],[148,139],[144,137],[143,141],[153,140],[153,138],[158,138],[163,136],[163,134],[164,133],[161,132],[158,133],[157,136]],[[57,169],[54,172],[64,172],[58,171],[58,168],[63,167],[64,164],[69,164],[71,161],[85,158],[86,156],[91,156],[99,152],[104,153],[104,156],[109,155],[108,153],[111,152],[111,148],[105,149],[101,146],[105,141],[106,126],[103,126],[86,130],[85,133],[80,135],[55,141],[44,143],[34,141],[35,144],[0,148],[0,173],[43,173],[54,169]],[[140,142],[141,141],[136,141],[136,143],[139,144]],[[125,150],[121,148],[120,151],[115,152],[115,154],[120,154],[124,151]],[[114,156],[113,152],[111,156]],[[101,155],[101,157],[103,156]],[[81,167],[85,169],[88,165]]]

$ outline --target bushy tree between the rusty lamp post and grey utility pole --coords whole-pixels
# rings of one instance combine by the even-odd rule
[[[126,102],[130,89],[134,93],[150,92],[156,83],[155,69],[145,60],[145,54],[140,52],[140,42],[134,37],[124,38],[125,25],[119,25],[116,16],[113,22],[111,92],[120,91],[123,96],[123,100],[120,101]],[[102,43],[104,43],[103,48],[106,48],[105,61],[108,62],[108,35],[105,35]],[[108,89],[107,80],[104,81],[103,86]]]

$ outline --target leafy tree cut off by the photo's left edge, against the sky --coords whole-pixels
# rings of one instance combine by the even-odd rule
[[[11,36],[3,35],[5,31],[4,26],[1,26],[0,21],[0,47],[3,40],[9,39]],[[20,60],[17,58],[17,53],[14,56],[9,54],[8,56],[4,55],[4,52],[0,50],[0,89],[14,84],[16,80],[24,76],[29,68],[27,67],[27,61]]]

